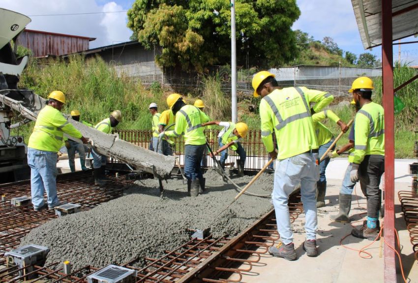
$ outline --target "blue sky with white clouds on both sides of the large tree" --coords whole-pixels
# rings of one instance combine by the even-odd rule
[[[134,0],[1,0],[0,7],[22,14],[44,15],[64,13],[115,12],[127,10]],[[363,49],[350,0],[297,0],[301,15],[293,25],[312,35],[316,40],[332,37],[339,48],[356,55],[370,52],[381,59],[380,47]],[[132,34],[126,27],[126,13],[89,14],[75,16],[31,17],[29,29],[68,33],[97,39],[90,48],[128,41]],[[412,37],[402,41],[417,40]],[[398,60],[398,46],[393,47],[394,61]],[[418,65],[418,44],[401,46],[401,62]]]

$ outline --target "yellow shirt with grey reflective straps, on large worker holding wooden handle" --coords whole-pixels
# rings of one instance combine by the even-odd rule
[[[278,159],[318,149],[309,105],[317,102],[313,107],[317,112],[332,99],[333,96],[326,92],[304,87],[276,89],[263,97],[260,102],[261,135],[267,151],[274,150],[273,130],[278,145]]]

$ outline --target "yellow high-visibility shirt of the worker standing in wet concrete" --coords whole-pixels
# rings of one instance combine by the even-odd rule
[[[174,130],[166,131],[167,136],[184,135],[185,145],[203,145],[206,137],[203,133],[202,123],[209,122],[209,117],[193,105],[184,105],[176,114]]]

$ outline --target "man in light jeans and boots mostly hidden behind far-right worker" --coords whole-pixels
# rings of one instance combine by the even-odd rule
[[[356,107],[356,102],[354,100],[351,101],[351,105],[355,107],[356,112],[359,110]],[[338,197],[339,202],[339,212],[336,215],[331,215],[329,218],[333,221],[337,222],[350,222],[349,214],[351,210],[351,194],[353,193],[354,186],[356,186],[356,182],[351,182],[350,172],[351,172],[351,164],[353,162],[354,157],[354,125],[352,125],[350,129],[350,133],[348,134],[348,143],[343,145],[340,149],[334,150],[332,153],[328,153],[328,157],[335,158],[339,157],[342,153],[348,151],[348,166],[344,174],[344,179],[341,183],[341,189]]]

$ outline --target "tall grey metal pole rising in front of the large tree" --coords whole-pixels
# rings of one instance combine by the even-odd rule
[[[231,100],[232,122],[237,123],[237,46],[235,42],[235,0],[231,0]]]

